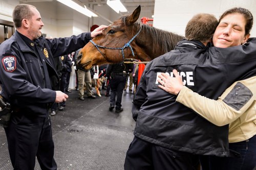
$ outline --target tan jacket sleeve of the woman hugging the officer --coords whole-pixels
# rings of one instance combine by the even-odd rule
[[[252,105],[255,101],[255,84],[256,77],[235,82],[217,101],[199,95],[184,86],[176,101],[193,109],[212,124],[223,126],[236,120]]]

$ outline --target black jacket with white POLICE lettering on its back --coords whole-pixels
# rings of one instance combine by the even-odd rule
[[[256,75],[255,46],[253,39],[245,45],[207,50],[200,42],[183,40],[176,50],[146,64],[133,101],[134,135],[173,150],[228,156],[228,125],[211,124],[176,102],[176,95],[158,87],[157,76],[161,72],[172,76],[175,68],[187,87],[217,99],[233,82]]]

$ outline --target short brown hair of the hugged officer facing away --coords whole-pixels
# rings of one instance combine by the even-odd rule
[[[217,18],[212,14],[200,13],[191,18],[185,29],[186,40],[209,41],[218,26]]]

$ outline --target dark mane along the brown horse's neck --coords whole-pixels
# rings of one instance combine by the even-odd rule
[[[122,16],[120,18],[123,21],[124,26],[125,26],[126,18],[127,16]],[[160,47],[162,50],[162,54],[165,54],[170,50],[173,50],[177,45],[177,42],[179,42],[184,38],[181,35],[178,35],[172,32],[163,31],[148,25],[141,26],[139,22],[134,23],[133,29],[135,30],[135,32],[137,32],[140,27],[142,27],[143,32],[146,33],[146,37],[152,37],[153,41],[155,41],[155,43],[151,43],[151,45],[153,44],[154,53],[157,50],[159,51],[159,47]],[[161,45],[159,46],[159,44]]]

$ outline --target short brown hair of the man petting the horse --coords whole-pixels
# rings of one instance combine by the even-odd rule
[[[33,12],[31,11],[31,8],[36,8],[36,7],[29,4],[19,4],[14,8],[12,12],[12,18],[13,18],[14,26],[16,28],[22,27],[23,19],[32,18]]]

